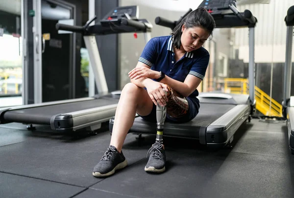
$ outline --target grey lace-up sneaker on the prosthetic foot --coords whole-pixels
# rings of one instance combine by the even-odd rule
[[[161,173],[165,171],[166,154],[163,144],[155,142],[149,149],[147,156],[149,160],[145,166],[145,171]]]

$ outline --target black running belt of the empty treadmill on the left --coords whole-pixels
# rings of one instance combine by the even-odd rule
[[[93,99],[87,101],[33,107],[28,109],[16,109],[5,112],[3,118],[9,122],[32,122],[35,124],[50,124],[50,119],[54,115],[66,114],[74,111],[80,111],[116,103],[118,103],[118,100]]]

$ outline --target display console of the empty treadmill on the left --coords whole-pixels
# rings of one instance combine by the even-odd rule
[[[137,20],[139,18],[139,7],[137,5],[133,6],[123,6],[116,7],[107,13],[102,20],[100,20],[101,25],[108,26],[109,23],[119,24],[121,19]]]

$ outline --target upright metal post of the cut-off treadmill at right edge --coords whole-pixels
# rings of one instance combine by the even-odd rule
[[[284,107],[287,107],[287,100],[291,95],[291,70],[292,70],[292,43],[293,43],[293,26],[287,26],[286,37],[286,60],[284,68]]]

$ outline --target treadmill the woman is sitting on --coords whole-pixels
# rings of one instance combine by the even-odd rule
[[[249,10],[240,13],[233,0],[204,0],[199,7],[205,7],[216,21],[217,28],[248,27],[249,28],[249,95],[200,93],[200,110],[195,119],[186,123],[164,123],[166,137],[197,139],[201,144],[220,148],[232,142],[235,132],[246,120],[250,121],[255,113],[254,99],[254,27],[256,18]],[[190,9],[188,12],[191,12]],[[186,13],[187,14],[187,13]],[[185,14],[185,15],[186,15]],[[184,15],[184,16],[185,16]],[[170,21],[161,17],[155,23],[174,28],[179,21]],[[115,118],[110,119],[109,128]],[[141,117],[135,118],[129,133],[156,135],[156,123],[150,123]]]

